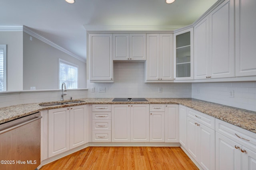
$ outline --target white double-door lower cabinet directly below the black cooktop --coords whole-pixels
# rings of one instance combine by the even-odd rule
[[[149,141],[149,105],[112,105],[112,142]]]

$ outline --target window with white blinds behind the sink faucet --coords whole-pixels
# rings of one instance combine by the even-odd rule
[[[67,89],[78,88],[78,66],[59,59],[59,89],[63,82]]]

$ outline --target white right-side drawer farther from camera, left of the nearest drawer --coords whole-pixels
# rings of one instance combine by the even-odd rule
[[[198,121],[198,123],[202,123],[203,125],[210,127],[211,129],[215,129],[214,117],[201,113],[200,111],[196,111],[194,109],[188,108],[187,116],[192,119]]]

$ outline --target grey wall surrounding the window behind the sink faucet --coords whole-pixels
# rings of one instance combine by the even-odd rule
[[[23,90],[58,89],[58,59],[78,65],[78,88],[86,88],[86,63],[23,33]]]

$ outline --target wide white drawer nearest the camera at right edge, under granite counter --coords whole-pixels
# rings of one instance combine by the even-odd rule
[[[256,149],[256,133],[242,129],[220,119],[216,119],[215,131],[238,142],[242,145],[251,146]],[[249,147],[248,146],[248,147]]]

